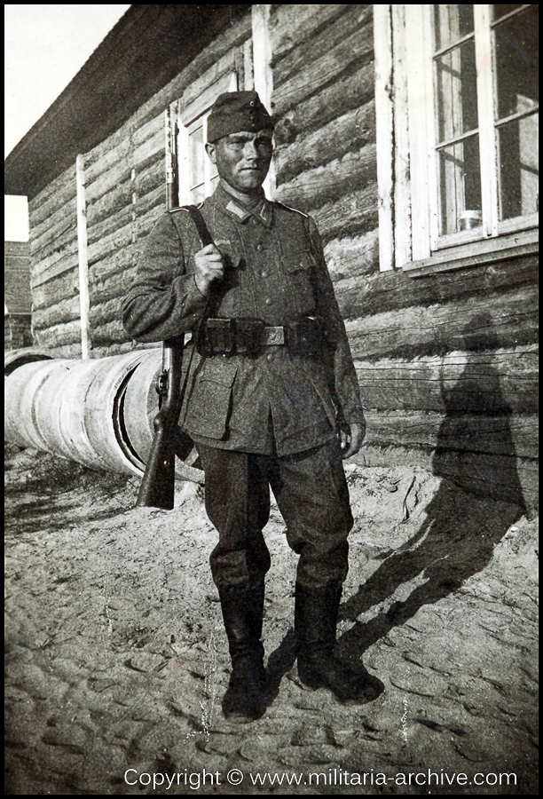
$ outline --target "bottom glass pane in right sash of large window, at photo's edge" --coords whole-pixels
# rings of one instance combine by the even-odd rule
[[[536,213],[539,207],[539,114],[498,129],[500,218]]]

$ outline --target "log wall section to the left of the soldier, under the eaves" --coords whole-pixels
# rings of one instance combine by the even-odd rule
[[[164,111],[173,101],[190,102],[195,89],[206,91],[234,67],[244,83],[250,36],[248,7],[118,131],[83,154],[91,358],[142,347],[122,329],[121,304],[146,235],[166,208]],[[75,165],[35,196],[29,217],[35,343],[55,357],[80,357]]]

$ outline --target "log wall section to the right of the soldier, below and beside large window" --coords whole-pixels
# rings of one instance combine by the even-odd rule
[[[537,258],[380,272],[373,7],[276,5],[270,24],[276,197],[325,244],[367,407],[358,462],[532,506]]]

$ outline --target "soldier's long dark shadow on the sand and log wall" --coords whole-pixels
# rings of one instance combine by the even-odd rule
[[[494,547],[526,510],[516,471],[511,408],[491,359],[488,352],[482,366],[472,356],[452,388],[442,382],[445,418],[432,462],[441,485],[416,533],[393,554],[384,554],[374,574],[340,608],[340,620],[355,623],[339,639],[337,652],[362,673],[361,656],[368,647],[411,619],[422,605],[438,602],[484,569]],[[409,591],[412,581],[415,586]],[[407,592],[407,597],[369,621],[359,618],[396,591]],[[270,700],[294,662],[291,630],[268,661]],[[374,686],[369,701],[382,692],[382,684],[369,675],[368,683]]]

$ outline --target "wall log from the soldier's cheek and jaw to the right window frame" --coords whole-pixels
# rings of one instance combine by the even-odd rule
[[[277,184],[374,142],[375,106],[374,102],[369,102],[323,125],[318,131],[297,138],[290,145],[278,147],[274,154]]]

